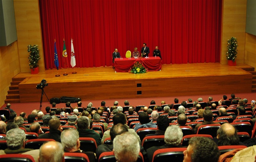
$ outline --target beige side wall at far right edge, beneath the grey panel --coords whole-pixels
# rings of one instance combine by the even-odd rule
[[[244,63],[256,69],[256,36],[245,33]]]

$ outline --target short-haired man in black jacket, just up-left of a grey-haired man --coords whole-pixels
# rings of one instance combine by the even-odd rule
[[[60,119],[59,118],[52,118],[49,121],[49,133],[44,133],[38,136],[39,139],[41,138],[47,138],[47,139],[54,139],[55,141],[61,142],[60,140],[60,134],[62,131]]]

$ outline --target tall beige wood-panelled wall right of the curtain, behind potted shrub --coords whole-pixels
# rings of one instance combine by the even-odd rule
[[[247,0],[223,0],[223,23],[220,63],[227,64],[227,40],[236,37],[238,53],[236,62],[244,63],[245,23]]]

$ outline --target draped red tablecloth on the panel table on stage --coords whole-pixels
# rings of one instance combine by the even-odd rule
[[[148,69],[148,71],[158,71],[162,68],[162,60],[160,57],[149,57],[149,58],[120,58],[115,59],[115,70],[116,72],[128,72],[133,67],[135,62],[141,62],[142,65]]]

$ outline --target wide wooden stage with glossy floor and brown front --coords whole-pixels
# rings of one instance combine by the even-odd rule
[[[56,69],[39,74],[20,73],[14,78],[25,78],[19,84],[20,102],[38,102],[41,90],[36,85],[45,79],[44,91],[48,98],[70,96],[83,100],[122,98],[171,97],[187,95],[251,93],[252,74],[242,68],[220,63],[163,65],[161,71],[145,74],[115,73],[112,67]],[[47,98],[43,97],[43,102]]]

